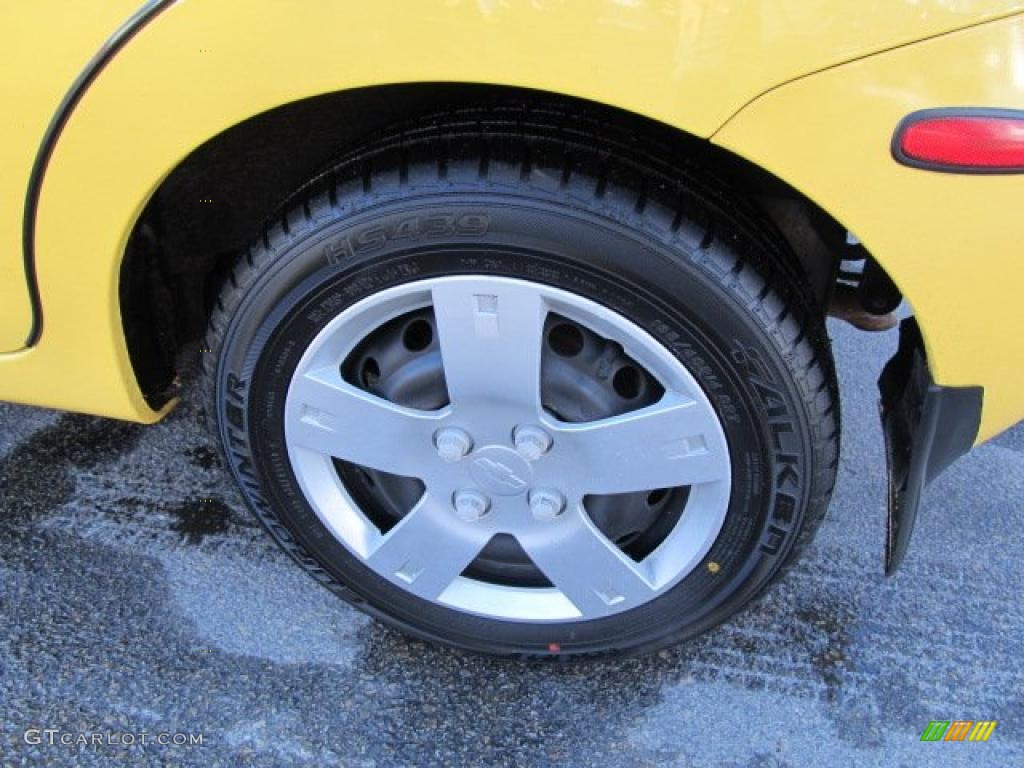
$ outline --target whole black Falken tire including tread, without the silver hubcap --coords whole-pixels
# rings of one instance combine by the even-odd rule
[[[253,511],[340,597],[406,632],[476,651],[646,651],[727,618],[813,534],[839,451],[821,312],[781,238],[741,194],[635,144],[579,115],[509,108],[437,116],[310,182],[238,261],[210,324],[210,410]],[[411,597],[328,532],[285,452],[291,370],[345,306],[457,272],[586,295],[687,366],[732,458],[729,510],[707,556],[717,567],[698,567],[608,618],[516,624]]]

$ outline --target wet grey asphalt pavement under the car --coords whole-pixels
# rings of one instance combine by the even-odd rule
[[[896,337],[831,331],[843,461],[815,543],[727,625],[617,662],[368,620],[254,523],[188,401],[156,427],[0,406],[0,765],[1024,765],[1024,426],[931,487],[887,580],[873,381]],[[955,719],[998,725],[920,741]]]

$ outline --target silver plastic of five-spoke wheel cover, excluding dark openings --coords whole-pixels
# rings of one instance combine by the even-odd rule
[[[360,340],[427,306],[434,311],[449,406],[403,408],[342,378],[341,364]],[[546,413],[540,372],[548,312],[622,344],[664,386],[664,396],[585,423]],[[649,602],[700,564],[730,498],[721,423],[675,355],[596,302],[509,278],[425,280],[345,309],[317,334],[294,372],[285,436],[306,500],[367,567],[424,600],[506,621],[600,618]],[[353,502],[332,457],[418,477],[426,490],[382,535]],[[639,562],[609,541],[584,507],[589,495],[680,485],[690,486],[682,514]],[[462,575],[498,534],[514,537],[554,586]]]

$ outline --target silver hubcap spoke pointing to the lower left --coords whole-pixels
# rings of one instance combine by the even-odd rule
[[[481,529],[460,524],[451,504],[427,492],[382,538],[367,564],[402,589],[436,600],[488,539]]]

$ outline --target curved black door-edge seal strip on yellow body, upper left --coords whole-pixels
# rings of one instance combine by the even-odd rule
[[[36,153],[36,160],[32,165],[32,172],[29,174],[29,185],[25,195],[25,216],[22,219],[25,281],[32,305],[32,326],[25,341],[26,346],[31,347],[38,344],[43,334],[43,304],[39,295],[39,281],[36,276],[36,216],[39,208],[39,197],[43,188],[43,177],[46,175],[46,167],[53,156],[53,150],[56,147],[60,133],[78,102],[82,100],[82,96],[85,95],[86,90],[103,71],[103,68],[143,27],[174,2],[175,0],[148,0],[127,22],[121,25],[93,54],[85,69],[79,73],[46,127],[46,132],[43,134],[42,142]]]

